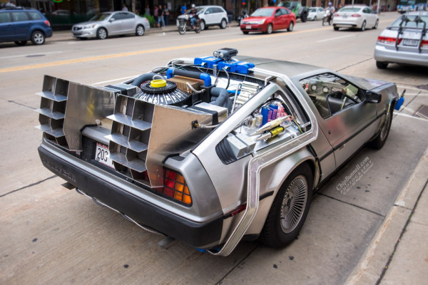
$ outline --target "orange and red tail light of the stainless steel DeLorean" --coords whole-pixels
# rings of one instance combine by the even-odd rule
[[[184,204],[192,204],[192,197],[183,175],[173,170],[165,169],[163,172],[163,194]]]

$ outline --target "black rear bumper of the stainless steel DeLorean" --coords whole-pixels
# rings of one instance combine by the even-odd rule
[[[223,214],[208,222],[193,222],[126,192],[118,185],[101,179],[99,175],[76,167],[73,163],[54,155],[44,145],[39,147],[39,155],[43,165],[51,172],[78,187],[86,195],[95,197],[118,212],[126,214],[139,224],[156,229],[193,247],[212,247],[220,240]]]

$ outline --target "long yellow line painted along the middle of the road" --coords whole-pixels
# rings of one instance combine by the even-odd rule
[[[128,53],[113,53],[113,54],[109,54],[109,55],[105,55],[105,56],[92,56],[92,57],[88,57],[88,58],[75,58],[75,59],[68,59],[66,61],[54,61],[51,63],[39,63],[39,64],[33,64],[33,65],[29,65],[29,66],[15,66],[15,67],[10,67],[10,68],[1,68],[0,73],[14,72],[14,71],[25,71],[25,70],[34,69],[34,68],[44,68],[44,67],[51,67],[51,66],[62,66],[62,65],[66,65],[66,64],[83,63],[83,62],[87,62],[87,61],[99,61],[102,59],[120,58],[123,56],[138,56],[141,54],[159,53],[162,51],[178,51],[178,50],[187,49],[187,48],[198,48],[200,46],[218,46],[218,45],[224,44],[224,43],[235,43],[235,42],[239,42],[239,41],[260,41],[260,39],[262,39],[262,41],[263,41],[263,38],[273,38],[273,37],[279,37],[279,36],[292,36],[292,35],[295,35],[298,33],[310,33],[313,31],[322,31],[325,29],[326,28],[313,28],[313,29],[305,30],[305,31],[293,31],[292,33],[275,33],[275,34],[263,35],[263,36],[258,36],[258,37],[243,36],[241,38],[232,38],[232,39],[223,40],[223,41],[209,41],[209,42],[205,42],[205,43],[193,43],[193,44],[188,44],[188,45],[183,45],[183,46],[170,46],[167,48],[152,48],[152,49],[143,50],[143,51],[131,51]]]

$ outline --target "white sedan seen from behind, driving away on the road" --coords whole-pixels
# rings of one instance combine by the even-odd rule
[[[365,31],[366,27],[377,28],[379,16],[368,6],[354,5],[344,6],[337,11],[333,17],[333,28],[360,28]]]

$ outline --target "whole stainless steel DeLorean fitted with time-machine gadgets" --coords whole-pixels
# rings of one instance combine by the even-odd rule
[[[226,53],[235,51],[215,55]],[[41,161],[144,229],[223,256],[259,235],[277,246],[265,235],[272,217],[294,239],[312,192],[366,142],[384,143],[397,100],[393,83],[301,63],[210,56],[167,66],[105,88],[45,76]]]

